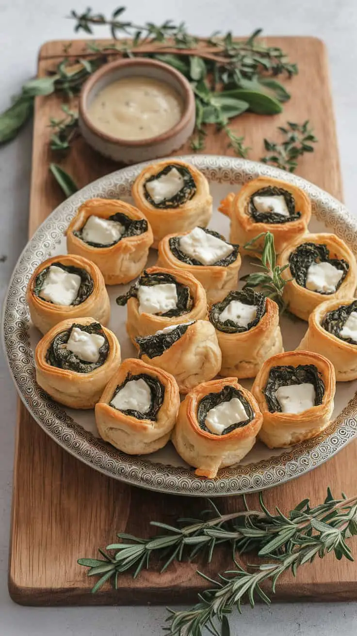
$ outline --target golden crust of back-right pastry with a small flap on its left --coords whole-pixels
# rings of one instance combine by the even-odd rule
[[[268,186],[284,188],[284,190],[287,190],[293,195],[295,199],[295,209],[301,212],[299,219],[291,221],[290,223],[255,222],[248,211],[249,200],[257,190],[267,188]],[[262,232],[271,232],[274,235],[275,249],[277,254],[279,254],[291,241],[307,232],[307,225],[311,218],[311,201],[303,190],[291,185],[291,183],[270,177],[258,177],[258,179],[253,179],[244,184],[236,195],[232,192],[229,193],[227,197],[221,201],[218,210],[230,217],[230,241],[241,246],[239,248],[241,254],[248,253],[244,250],[243,246]],[[258,245],[259,244],[257,244],[257,247]],[[249,250],[249,254],[252,256],[254,252]]]

